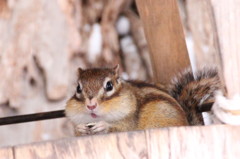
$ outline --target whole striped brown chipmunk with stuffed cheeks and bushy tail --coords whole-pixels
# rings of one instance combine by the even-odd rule
[[[197,80],[186,73],[167,90],[145,82],[125,81],[118,70],[118,65],[78,69],[76,93],[65,109],[77,136],[202,124],[196,108],[219,89],[214,73],[202,74]],[[212,88],[211,82],[217,86]]]

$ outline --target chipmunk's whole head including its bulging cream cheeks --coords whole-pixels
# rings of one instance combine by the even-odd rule
[[[86,122],[112,121],[129,111],[124,108],[128,97],[120,93],[123,85],[119,65],[114,68],[79,68],[78,75],[75,95],[67,103],[67,116],[75,114],[76,120],[81,117]]]

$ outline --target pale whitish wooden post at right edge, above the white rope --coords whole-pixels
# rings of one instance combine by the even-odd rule
[[[240,1],[209,0],[215,15],[228,97],[240,94]]]

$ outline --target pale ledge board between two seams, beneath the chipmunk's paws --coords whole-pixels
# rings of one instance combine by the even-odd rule
[[[147,158],[145,133],[86,136],[15,147],[16,159]]]

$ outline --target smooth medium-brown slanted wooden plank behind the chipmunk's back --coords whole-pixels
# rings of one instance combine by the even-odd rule
[[[137,0],[143,21],[154,80],[163,84],[190,66],[176,0]]]

